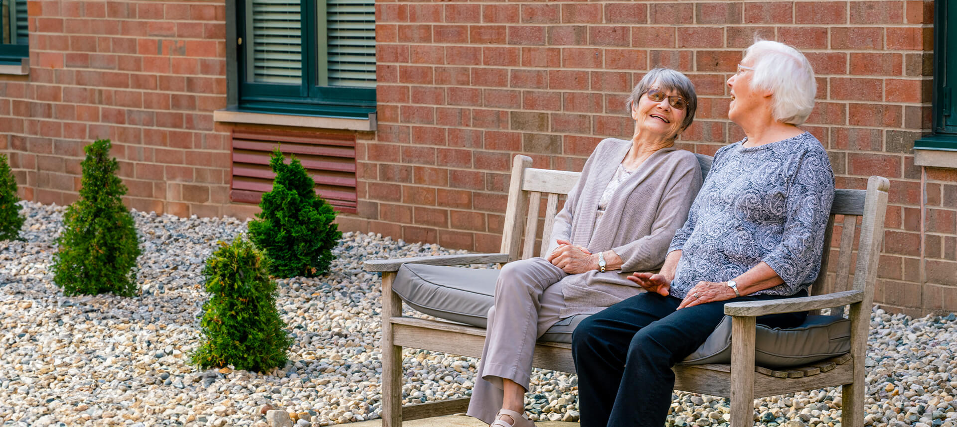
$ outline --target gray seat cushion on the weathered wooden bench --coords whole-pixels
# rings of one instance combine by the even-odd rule
[[[497,269],[404,264],[392,289],[413,309],[464,323],[487,327],[488,310],[495,301]],[[579,314],[560,320],[542,336],[542,341],[571,342],[571,332],[588,317]],[[840,316],[808,316],[791,329],[757,326],[754,355],[759,366],[777,368],[802,365],[849,352],[851,322]],[[708,339],[684,359],[685,364],[728,363],[731,360],[731,317],[724,316]]]

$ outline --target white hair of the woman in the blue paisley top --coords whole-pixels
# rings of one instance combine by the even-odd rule
[[[804,54],[784,43],[758,40],[745,50],[745,58],[753,59],[751,89],[773,94],[775,120],[798,125],[811,116],[817,82]]]

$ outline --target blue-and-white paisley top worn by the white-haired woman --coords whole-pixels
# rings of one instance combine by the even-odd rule
[[[835,178],[821,143],[797,137],[715,154],[688,221],[668,251],[681,249],[671,293],[724,282],[764,261],[784,284],[755,294],[793,295],[817,278]]]

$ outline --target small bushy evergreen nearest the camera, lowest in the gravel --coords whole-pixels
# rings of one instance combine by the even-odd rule
[[[220,246],[203,268],[210,293],[200,320],[206,341],[192,353],[192,363],[259,373],[283,366],[293,340],[276,310],[267,260],[242,236]]]

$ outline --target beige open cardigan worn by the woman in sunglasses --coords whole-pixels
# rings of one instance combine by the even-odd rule
[[[563,318],[598,312],[640,292],[626,277],[633,271],[661,267],[701,188],[701,167],[694,154],[675,148],[658,150],[622,182],[596,224],[598,201],[631,147],[630,140],[601,141],[555,217],[547,253],[558,246],[557,239],[563,239],[592,253],[612,249],[624,262],[620,271],[592,270],[559,281],[565,295]]]

